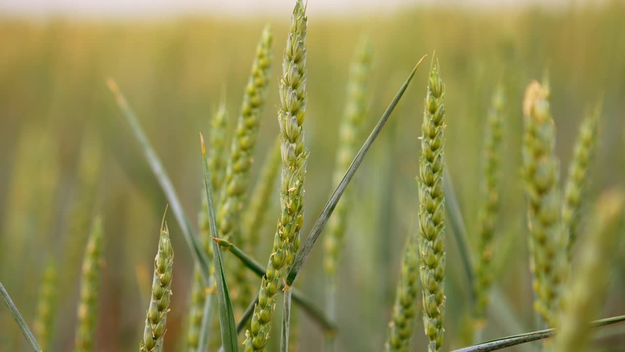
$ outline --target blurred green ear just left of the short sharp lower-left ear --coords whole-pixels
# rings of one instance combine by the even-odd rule
[[[102,219],[93,220],[91,233],[84,253],[80,301],[74,351],[93,351],[94,330],[98,318],[98,298],[103,255]]]

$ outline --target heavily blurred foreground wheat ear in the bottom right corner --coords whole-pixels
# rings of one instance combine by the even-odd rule
[[[590,321],[601,310],[607,293],[609,258],[618,238],[615,225],[621,219],[624,200],[619,190],[607,190],[597,200],[594,224],[587,231],[576,275],[563,293],[554,352],[587,351]]]

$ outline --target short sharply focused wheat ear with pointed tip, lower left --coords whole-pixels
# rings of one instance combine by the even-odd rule
[[[146,312],[146,326],[139,344],[141,352],[160,352],[163,349],[169,301],[171,300],[171,276],[174,264],[174,250],[169,241],[167,223],[161,225],[158,251],[154,258],[154,278],[152,280],[152,297]]]

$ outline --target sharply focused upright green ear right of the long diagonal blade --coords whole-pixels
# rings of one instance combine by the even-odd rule
[[[442,194],[445,144],[445,87],[438,60],[432,62],[423,113],[419,157],[419,269],[427,350],[440,351],[445,329],[445,198]]]

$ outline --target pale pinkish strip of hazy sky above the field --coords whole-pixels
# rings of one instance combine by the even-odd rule
[[[567,3],[569,0],[308,0],[309,13],[392,11],[399,6],[517,6],[528,3]],[[169,16],[172,14],[276,14],[294,0],[0,0],[0,14],[76,16]]]

